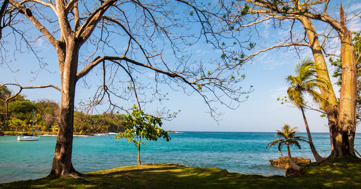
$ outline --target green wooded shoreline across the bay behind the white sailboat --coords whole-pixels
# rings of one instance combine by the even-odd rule
[[[0,88],[0,132],[29,132],[31,131],[31,113],[35,110],[35,120],[40,132],[50,132],[56,135],[59,125],[60,106],[50,99],[39,99],[30,101],[26,95],[18,94],[7,103],[6,114],[5,99],[14,93],[6,86]],[[89,115],[81,110],[74,111],[74,133],[89,135],[92,133],[109,133],[124,131],[121,122],[124,114],[113,114],[104,112],[101,115]],[[6,132],[8,133],[8,132]]]

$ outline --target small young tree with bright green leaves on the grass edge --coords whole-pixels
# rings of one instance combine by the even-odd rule
[[[132,113],[126,115],[122,125],[125,127],[125,132],[120,132],[119,135],[115,135],[115,138],[119,140],[125,137],[128,139],[127,142],[135,143],[135,146],[138,147],[138,165],[141,165],[140,145],[147,145],[145,142],[141,142],[141,139],[157,141],[163,138],[167,142],[170,140],[168,132],[160,128],[162,126],[161,119],[144,114],[143,110],[138,109],[135,105],[133,105]]]

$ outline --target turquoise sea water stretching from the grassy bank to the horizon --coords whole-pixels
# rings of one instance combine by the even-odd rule
[[[188,167],[217,167],[230,172],[257,175],[284,175],[284,170],[270,166],[269,159],[280,155],[277,148],[265,150],[276,138],[268,132],[180,132],[170,133],[171,140],[148,141],[142,145],[142,163],[178,163]],[[300,133],[306,136],[306,133]],[[37,179],[50,172],[55,136],[39,141],[17,141],[17,136],[0,137],[0,183]],[[312,133],[321,156],[330,154],[329,133]],[[360,134],[355,148],[361,145]],[[313,159],[308,144],[291,149],[292,156]],[[361,151],[361,149],[359,150]],[[284,155],[287,149],[284,149]],[[77,171],[105,170],[137,164],[137,148],[126,139],[117,141],[113,134],[74,137],[72,161]]]

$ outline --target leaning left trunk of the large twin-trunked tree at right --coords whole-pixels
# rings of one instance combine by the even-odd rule
[[[300,17],[298,17],[298,19],[303,24],[307,38],[309,39],[309,44],[310,44],[310,48],[312,50],[315,64],[322,71],[322,72],[317,72],[317,77],[325,79],[327,82],[331,83],[329,71],[327,69],[327,65],[326,65],[326,61],[325,61],[325,57],[323,56],[321,45],[319,44],[317,32],[316,32],[314,25],[312,24],[310,19],[307,17],[300,16]],[[325,84],[322,84],[322,85],[325,85]],[[326,85],[325,85],[325,87],[326,87]],[[333,89],[330,89],[330,90],[320,89],[320,91],[321,91],[322,97],[325,98],[327,100],[327,102],[329,103],[327,105],[327,107],[325,107],[325,109],[326,109],[326,114],[327,114],[327,120],[329,123],[331,155],[338,154],[337,149],[335,149],[334,145],[333,145],[333,139],[332,139],[333,134],[332,133],[335,133],[335,128],[338,127],[337,120],[338,120],[338,115],[339,115],[339,109],[338,109],[339,102],[337,101],[337,98],[336,98],[336,95],[335,95],[335,92]]]

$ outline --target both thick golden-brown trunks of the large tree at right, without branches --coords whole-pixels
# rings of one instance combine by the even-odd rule
[[[304,16],[300,16],[299,20],[303,23],[309,38],[315,63],[325,72],[325,75],[317,73],[317,76],[330,81],[314,26]],[[328,90],[328,92],[321,90],[321,94],[329,102],[326,113],[330,129],[331,154],[328,158],[341,158],[355,155],[353,147],[356,132],[357,68],[352,34],[346,26],[342,5],[340,23],[336,21],[329,21],[328,23],[336,29],[341,41],[342,84],[340,102],[335,100],[333,90]]]

